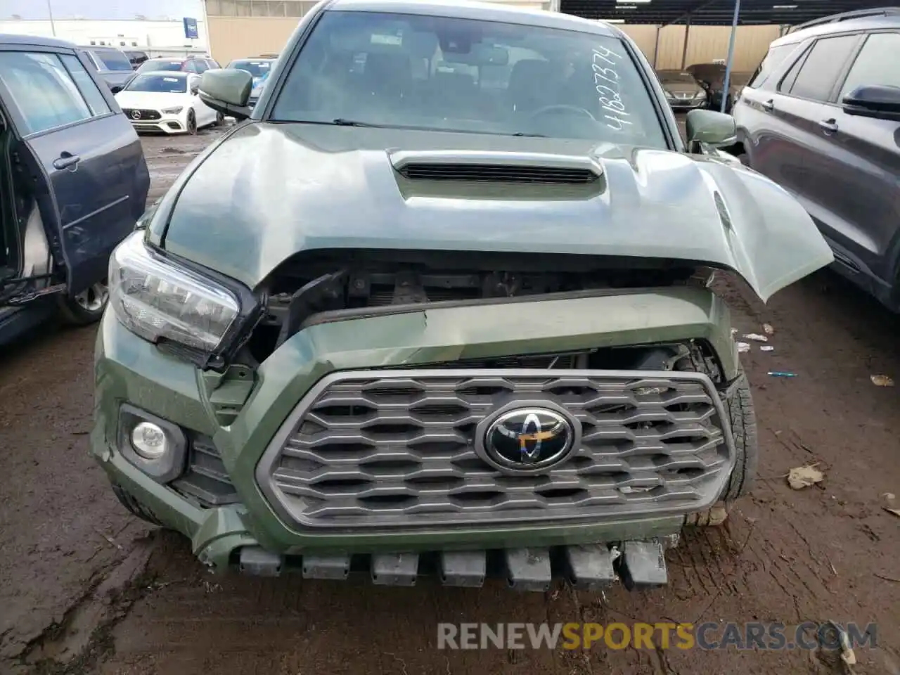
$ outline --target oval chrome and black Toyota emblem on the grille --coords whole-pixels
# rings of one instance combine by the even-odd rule
[[[476,449],[509,473],[538,473],[562,463],[577,447],[578,423],[545,406],[507,406],[476,429]]]

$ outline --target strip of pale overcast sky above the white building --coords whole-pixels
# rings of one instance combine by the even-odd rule
[[[48,0],[0,0],[0,20],[18,14],[23,19],[47,19]],[[49,0],[54,19],[148,19],[202,17],[200,0]]]

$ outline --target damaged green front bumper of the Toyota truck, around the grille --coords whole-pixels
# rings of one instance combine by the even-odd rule
[[[568,559],[566,547],[573,545],[661,541],[677,534],[684,514],[664,510],[611,511],[589,520],[493,522],[489,527],[473,522],[374,530],[302,527],[261,489],[257,469],[266,448],[304,395],[335,372],[697,338],[713,348],[726,377],[736,374],[728,312],[706,290],[544,301],[531,308],[539,310],[538,321],[528,320],[534,316],[527,311],[529,304],[428,309],[320,324],[289,339],[255,374],[232,366],[232,371],[241,370],[233,377],[201,373],[132,335],[107,312],[96,344],[91,452],[112,482],[166,526],[189,536],[194,553],[220,569],[240,563],[241,552],[247,570],[280,569],[274,560],[287,563],[315,555],[333,562],[345,554],[374,554],[373,565],[376,560],[388,564],[395,552],[548,549]],[[211,506],[153,481],[131,464],[117,440],[124,403],[211,439],[236,499]],[[559,546],[563,549],[554,549]],[[384,554],[388,563],[377,557]],[[258,567],[259,560],[273,555]],[[532,558],[541,555],[525,559]]]

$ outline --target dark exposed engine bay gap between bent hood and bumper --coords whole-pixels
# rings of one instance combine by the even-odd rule
[[[706,266],[651,258],[317,251],[315,257],[288,261],[267,280],[266,313],[248,348],[262,361],[311,323],[403,311],[412,305],[707,285],[712,274]]]

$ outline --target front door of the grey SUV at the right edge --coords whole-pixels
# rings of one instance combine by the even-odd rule
[[[817,220],[840,252],[886,283],[896,276],[900,230],[900,122],[852,115],[842,99],[861,85],[900,86],[900,31],[865,37],[847,76],[824,105],[817,131],[824,152],[810,159],[828,182],[815,192]]]

